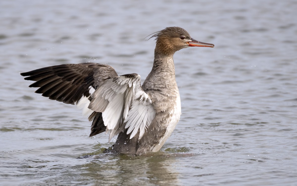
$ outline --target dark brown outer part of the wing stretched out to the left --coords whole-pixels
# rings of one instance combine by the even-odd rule
[[[49,99],[74,104],[82,96],[89,96],[89,87],[98,86],[105,79],[118,76],[109,65],[79,63],[56,65],[21,73],[26,80],[36,81],[29,87]]]

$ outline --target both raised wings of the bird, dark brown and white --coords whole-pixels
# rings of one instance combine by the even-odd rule
[[[36,81],[36,93],[67,104],[76,104],[83,115],[93,120],[90,136],[110,130],[109,140],[127,130],[130,139],[139,139],[156,112],[140,85],[138,74],[118,76],[109,65],[97,63],[66,64],[21,73]]]

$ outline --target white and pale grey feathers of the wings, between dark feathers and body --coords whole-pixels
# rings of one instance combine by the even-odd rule
[[[89,87],[89,97],[83,96],[77,107],[82,109],[84,116],[92,112],[102,112],[104,125],[108,132],[109,141],[121,131],[128,129],[132,139],[138,131],[139,139],[151,124],[156,111],[151,104],[151,99],[140,85],[140,76],[128,74],[107,79],[95,90]]]

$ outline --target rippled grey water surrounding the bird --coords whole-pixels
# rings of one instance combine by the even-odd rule
[[[296,185],[296,10],[293,0],[2,0],[0,185]],[[90,61],[143,81],[155,46],[144,38],[166,26],[215,47],[176,52],[182,115],[157,153],[103,153],[115,139],[88,138],[80,110],[19,75]]]

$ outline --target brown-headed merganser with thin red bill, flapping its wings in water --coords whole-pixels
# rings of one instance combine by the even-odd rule
[[[157,152],[175,129],[181,100],[175,77],[173,54],[187,47],[214,47],[193,39],[181,27],[166,27],[155,38],[153,67],[141,85],[140,75],[118,75],[106,64],[62,64],[21,73],[35,81],[35,93],[73,104],[91,124],[89,137],[109,132],[118,135],[111,153],[141,155]]]

